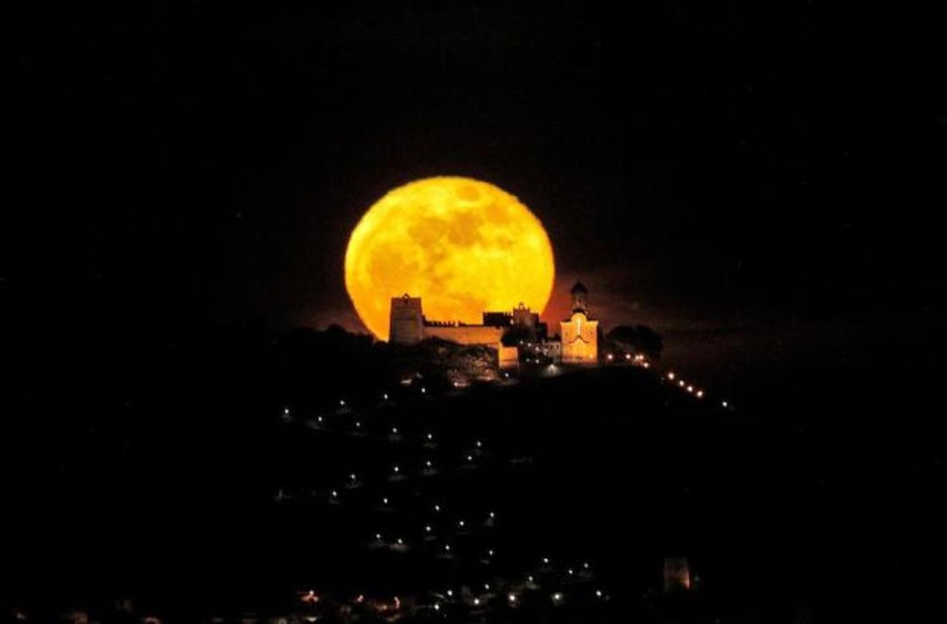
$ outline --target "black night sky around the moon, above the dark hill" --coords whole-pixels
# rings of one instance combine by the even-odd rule
[[[455,174],[540,217],[557,292],[581,277],[606,325],[648,323],[708,374],[933,318],[947,108],[929,16],[71,4],[20,9],[8,94],[2,277],[53,317],[353,327],[351,228],[385,190]]]

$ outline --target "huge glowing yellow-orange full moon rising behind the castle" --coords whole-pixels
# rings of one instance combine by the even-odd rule
[[[388,339],[391,297],[421,297],[424,316],[479,324],[524,303],[543,312],[556,275],[543,223],[487,182],[425,178],[397,187],[355,226],[346,289],[366,328]]]

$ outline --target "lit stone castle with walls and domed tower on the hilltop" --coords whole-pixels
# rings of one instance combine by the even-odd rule
[[[497,349],[500,365],[515,365],[519,361],[518,349],[504,347],[502,339],[516,330],[528,336],[530,348],[553,362],[595,364],[599,361],[599,321],[589,317],[588,290],[577,282],[570,294],[572,312],[559,323],[560,340],[550,340],[539,314],[522,303],[512,312],[483,312],[483,322],[475,325],[428,320],[421,311],[420,297],[406,293],[391,299],[388,340],[396,345],[416,345],[428,338],[439,338],[458,345],[484,345]]]

